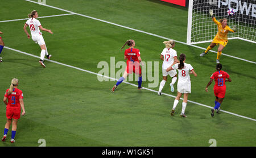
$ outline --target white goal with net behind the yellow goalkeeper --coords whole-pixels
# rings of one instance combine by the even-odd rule
[[[228,39],[241,39],[256,43],[256,1],[255,0],[189,0],[187,44],[212,41],[218,32],[217,25],[210,17],[213,10],[217,20],[228,19],[228,26],[237,27]],[[235,14],[228,15],[234,9]]]

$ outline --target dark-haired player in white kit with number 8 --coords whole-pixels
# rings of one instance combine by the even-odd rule
[[[185,63],[186,56],[184,54],[181,54],[179,59],[180,63],[174,64],[166,69],[167,72],[172,69],[177,69],[179,72],[179,80],[177,82],[177,97],[175,98],[174,107],[172,107],[171,115],[174,115],[175,108],[179,103],[181,95],[183,94],[184,98],[182,102],[182,111],[180,116],[186,118],[187,116],[185,115],[185,109],[188,101],[188,93],[191,93],[191,81],[189,73],[193,74],[195,77],[197,76],[197,74],[190,64]]]

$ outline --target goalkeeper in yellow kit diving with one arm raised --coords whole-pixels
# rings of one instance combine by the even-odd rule
[[[236,26],[234,26],[233,28],[230,28],[227,24],[228,20],[225,18],[220,19],[220,21],[218,22],[216,18],[213,16],[213,10],[209,10],[209,13],[210,13],[210,16],[212,16],[213,22],[216,23],[218,26],[218,33],[214,37],[212,43],[210,43],[210,45],[207,47],[205,52],[201,53],[200,56],[206,55],[210,49],[215,47],[215,45],[219,45],[216,63],[220,63],[220,56],[221,56],[222,50],[228,43],[228,32],[229,31],[236,32],[237,28]]]

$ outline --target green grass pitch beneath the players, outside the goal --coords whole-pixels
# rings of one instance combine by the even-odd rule
[[[36,1],[37,2],[37,1]],[[185,42],[187,36],[188,9],[154,0],[94,0],[61,1],[47,0],[47,5],[92,16],[108,22],[143,30]],[[2,20],[27,18],[32,10],[39,16],[67,14],[27,1],[1,1]],[[10,14],[12,10],[12,14]],[[159,82],[162,81],[160,53],[164,39],[143,34],[112,24],[85,18],[79,15],[57,16],[39,19],[44,28],[53,35],[43,32],[48,52],[52,59],[63,64],[98,73],[100,61],[110,64],[124,61],[120,48],[127,39],[134,39],[135,48],[140,49],[143,61],[159,62]],[[6,47],[40,56],[40,48],[23,31],[24,22],[0,23],[0,31]],[[198,44],[207,48],[209,43]],[[222,51],[227,55],[256,61],[256,44],[241,40],[229,40]],[[125,47],[127,48],[127,47]],[[185,53],[186,62],[195,68],[197,77],[191,76],[192,93],[190,101],[214,106],[213,84],[209,93],[204,91],[210,75],[215,71],[216,53],[200,57],[203,49],[176,43],[177,55]],[[213,49],[217,51],[217,47]],[[46,68],[38,58],[3,48],[0,63],[1,98],[9,88],[11,78],[19,79],[23,90],[26,115],[21,117],[14,144],[1,142],[0,147],[38,147],[39,139],[46,140],[46,146],[209,146],[209,139],[216,139],[217,146],[255,146],[256,124],[254,120],[221,112],[210,116],[210,109],[188,102],[185,113],[179,116],[181,102],[174,117],[170,116],[174,99],[167,95],[158,96],[148,90],[137,90],[135,86],[122,83],[116,92],[110,89],[116,81],[98,81],[96,74],[69,68],[46,61]],[[226,83],[226,97],[222,110],[256,119],[255,86],[256,65],[246,61],[221,56],[223,70],[228,72],[232,82]],[[117,72],[116,69],[115,72]],[[154,74],[154,69],[152,74]],[[106,75],[106,74],[105,74]],[[109,74],[110,75],[110,74]],[[107,75],[107,76],[109,76]],[[118,79],[118,78],[117,78]],[[163,93],[171,93],[168,84]],[[137,84],[137,81],[131,82]],[[148,86],[149,81],[142,86]],[[158,90],[151,88],[152,90]],[[6,122],[5,104],[0,103],[0,134]]]

